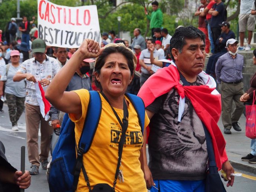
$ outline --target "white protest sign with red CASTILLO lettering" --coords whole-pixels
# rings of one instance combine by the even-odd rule
[[[86,38],[100,43],[96,5],[67,7],[37,0],[37,8],[38,37],[46,45],[78,48]]]

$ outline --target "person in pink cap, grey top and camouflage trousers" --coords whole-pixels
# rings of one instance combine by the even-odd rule
[[[20,69],[20,52],[18,50],[11,51],[11,62],[4,66],[0,79],[0,96],[3,95],[3,87],[5,85],[4,95],[6,96],[9,108],[10,121],[12,122],[12,130],[18,131],[17,121],[24,110],[24,102],[26,96],[25,81],[13,82],[13,76]]]

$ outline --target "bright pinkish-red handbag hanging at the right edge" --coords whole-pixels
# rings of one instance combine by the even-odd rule
[[[253,91],[253,102],[252,105],[246,105],[246,124],[245,124],[245,136],[250,139],[256,139],[256,95],[255,90]]]

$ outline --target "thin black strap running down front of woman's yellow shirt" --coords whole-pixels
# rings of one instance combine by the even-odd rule
[[[105,94],[103,92],[101,92],[101,95],[109,103],[108,98],[105,96]],[[109,105],[111,106],[110,103],[109,103]],[[116,119],[118,120],[119,124],[122,127],[122,135],[121,135],[121,138],[120,138],[119,143],[118,143],[118,161],[117,161],[116,172],[115,172],[115,180],[113,182],[113,188],[112,188],[113,191],[115,191],[115,185],[116,185],[116,181],[117,181],[118,174],[119,174],[119,168],[120,168],[120,165],[121,165],[122,152],[123,152],[123,146],[124,146],[124,141],[125,141],[125,132],[126,132],[126,130],[128,128],[128,116],[129,116],[129,113],[128,113],[127,105],[125,103],[125,98],[124,98],[123,105],[124,105],[123,106],[124,117],[123,117],[122,121],[119,118],[119,116],[117,115],[115,109],[111,106],[111,109],[113,110],[113,112],[114,112],[114,114],[116,116]],[[92,189],[91,189],[91,186],[90,186],[90,183],[89,183],[89,178],[87,176],[87,173],[85,171],[85,167],[83,165],[82,165],[82,171],[83,171],[83,175],[85,177],[85,181],[87,183],[87,186],[89,188],[89,192],[92,192]]]

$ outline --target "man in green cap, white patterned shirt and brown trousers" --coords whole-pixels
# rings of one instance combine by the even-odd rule
[[[27,150],[29,156],[30,175],[39,173],[40,162],[43,169],[47,169],[48,155],[50,150],[50,135],[53,132],[49,121],[46,121],[40,112],[39,102],[36,97],[35,83],[40,83],[46,91],[53,77],[57,74],[60,66],[56,59],[46,55],[46,44],[42,39],[35,39],[32,42],[32,52],[35,57],[24,61],[13,77],[14,82],[26,78],[26,132]],[[39,123],[41,130],[40,154],[38,150]],[[40,159],[39,159],[40,156]]]

